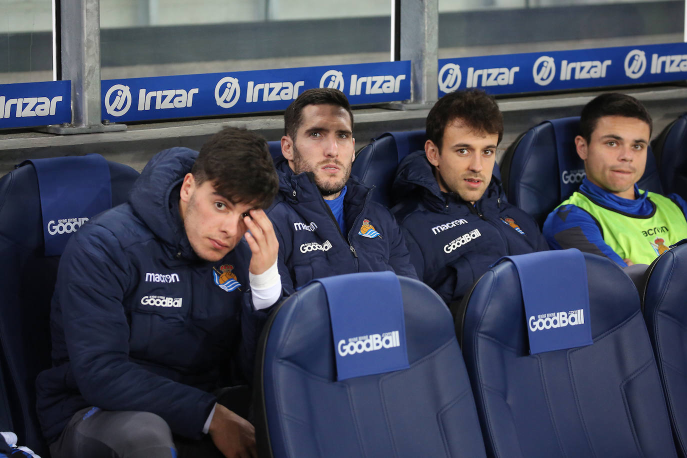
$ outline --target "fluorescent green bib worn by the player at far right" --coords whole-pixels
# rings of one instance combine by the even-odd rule
[[[653,192],[648,197],[654,207],[649,216],[631,216],[601,207],[578,191],[561,205],[577,205],[594,216],[604,241],[622,259],[651,264],[670,245],[687,238],[687,221],[671,199]]]

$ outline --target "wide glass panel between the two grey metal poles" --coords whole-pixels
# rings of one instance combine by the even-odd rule
[[[390,22],[390,0],[101,0],[101,76],[385,61]]]

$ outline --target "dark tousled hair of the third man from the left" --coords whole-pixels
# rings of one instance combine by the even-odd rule
[[[441,151],[444,129],[455,119],[460,119],[477,132],[498,134],[504,137],[504,116],[493,96],[481,89],[455,91],[444,95],[427,115],[427,138]]]

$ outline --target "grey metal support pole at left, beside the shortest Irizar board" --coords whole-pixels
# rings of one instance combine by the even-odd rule
[[[71,80],[71,124],[47,126],[56,134],[126,130],[100,113],[100,0],[60,1],[62,79]]]

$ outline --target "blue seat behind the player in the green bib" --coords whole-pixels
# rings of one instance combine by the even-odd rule
[[[508,201],[543,225],[546,216],[582,183],[585,165],[575,150],[580,117],[544,121],[508,147],[501,174]],[[662,193],[656,161],[649,148],[640,189]]]

